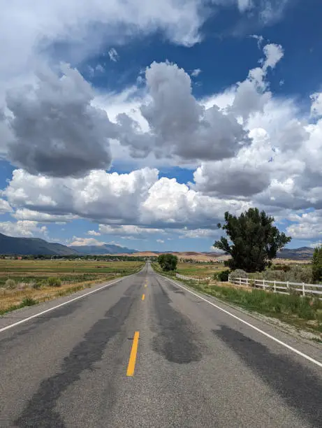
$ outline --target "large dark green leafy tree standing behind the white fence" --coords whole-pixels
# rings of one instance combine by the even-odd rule
[[[291,241],[291,236],[273,226],[275,219],[258,208],[249,208],[236,217],[225,213],[225,224],[218,224],[228,238],[221,236],[214,247],[224,250],[231,258],[226,262],[230,269],[247,272],[263,271],[272,264],[277,251]]]

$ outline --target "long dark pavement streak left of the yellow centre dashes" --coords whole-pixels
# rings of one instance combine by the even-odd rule
[[[98,320],[87,331],[84,340],[71,350],[61,364],[61,373],[43,380],[38,391],[15,421],[17,427],[64,428],[64,421],[55,411],[57,400],[73,383],[80,380],[82,371],[93,370],[94,363],[101,360],[108,341],[121,329],[129,316],[133,304],[133,294],[140,285],[131,285],[126,294],[112,306],[105,317]]]

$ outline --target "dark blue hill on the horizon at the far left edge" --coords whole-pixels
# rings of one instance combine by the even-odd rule
[[[78,254],[73,248],[40,238],[15,238],[0,234],[0,254],[6,255],[70,255]]]

